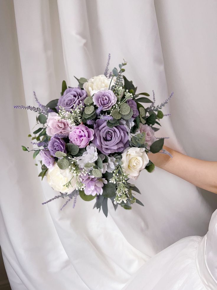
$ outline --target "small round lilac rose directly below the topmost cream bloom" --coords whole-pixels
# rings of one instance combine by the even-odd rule
[[[93,103],[102,110],[109,110],[117,102],[116,95],[112,90],[101,90],[94,94]]]

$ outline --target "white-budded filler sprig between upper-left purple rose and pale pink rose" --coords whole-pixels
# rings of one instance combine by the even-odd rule
[[[74,104],[74,108],[71,109],[71,112],[68,112],[60,106],[60,110],[58,113],[61,119],[66,119],[70,122],[72,126],[76,126],[81,124],[83,108],[84,106],[81,103],[79,106],[75,106]]]

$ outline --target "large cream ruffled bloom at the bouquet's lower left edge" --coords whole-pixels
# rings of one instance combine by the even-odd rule
[[[71,185],[67,188],[63,186],[67,182],[71,180]],[[58,167],[57,163],[55,162],[53,167],[48,169],[47,173],[47,181],[48,184],[56,191],[63,192],[63,193],[71,193],[76,188],[76,179],[71,174],[69,169],[62,170]]]

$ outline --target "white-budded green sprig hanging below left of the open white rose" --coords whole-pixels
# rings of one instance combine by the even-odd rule
[[[110,179],[110,182],[117,184],[114,204],[121,203],[122,201],[124,203],[127,202],[127,199],[129,198],[127,179],[127,175],[123,172],[121,165],[118,164],[113,171],[113,177]]]

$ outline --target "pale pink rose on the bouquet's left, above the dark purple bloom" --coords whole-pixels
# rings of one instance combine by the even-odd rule
[[[49,136],[55,134],[69,134],[71,125],[68,120],[61,119],[61,117],[54,112],[48,114],[46,133]]]

